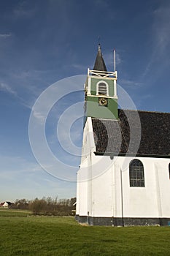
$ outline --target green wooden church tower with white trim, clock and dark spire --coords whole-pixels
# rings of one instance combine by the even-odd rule
[[[99,44],[94,67],[88,69],[85,83],[85,117],[117,120],[116,81],[117,72],[107,72]]]

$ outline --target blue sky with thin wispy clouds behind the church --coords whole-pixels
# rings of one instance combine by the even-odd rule
[[[118,83],[136,108],[169,112],[169,12],[168,0],[0,1],[0,201],[76,195],[73,177],[80,163],[85,78],[81,75],[93,68],[98,36],[110,71],[115,48]],[[75,77],[76,92],[58,100],[45,123],[47,144],[61,165],[56,172],[43,170],[29,143],[31,110],[43,91],[55,83],[61,95],[63,82],[69,88],[69,77],[75,75],[80,76]],[[44,106],[49,102],[45,97]],[[40,121],[44,118],[34,114]],[[64,129],[68,125],[71,147]],[[64,172],[68,178],[63,178]]]

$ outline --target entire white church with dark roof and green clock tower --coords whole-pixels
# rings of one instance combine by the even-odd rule
[[[88,225],[170,225],[170,113],[118,109],[117,72],[98,45],[85,82],[76,219]]]

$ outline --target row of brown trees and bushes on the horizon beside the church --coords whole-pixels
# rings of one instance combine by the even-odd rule
[[[71,199],[58,199],[55,197],[35,198],[34,200],[17,199],[10,208],[32,211],[34,215],[70,216],[75,214],[76,197]]]

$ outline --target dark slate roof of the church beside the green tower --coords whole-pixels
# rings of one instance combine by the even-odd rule
[[[118,110],[118,116],[92,118],[96,154],[170,157],[170,113]]]

